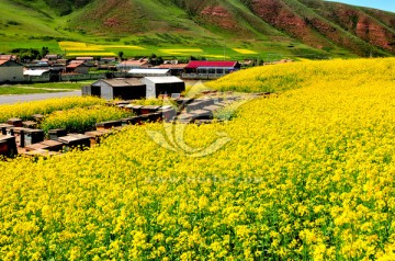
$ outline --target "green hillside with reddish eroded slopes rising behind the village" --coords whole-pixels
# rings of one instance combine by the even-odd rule
[[[320,0],[2,0],[0,18],[0,52],[71,39],[395,54],[395,13]]]

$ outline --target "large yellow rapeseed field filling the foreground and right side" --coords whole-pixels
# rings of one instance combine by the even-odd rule
[[[232,121],[0,161],[0,259],[394,260],[394,58],[244,70],[210,87],[278,94]]]

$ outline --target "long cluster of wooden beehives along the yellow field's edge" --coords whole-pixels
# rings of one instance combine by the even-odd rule
[[[126,125],[140,125],[147,122],[181,122],[181,123],[210,123],[214,112],[238,100],[239,97],[226,99],[178,99],[178,107],[171,105],[136,105],[128,101],[109,103],[123,110],[129,110],[136,116],[119,121],[97,123],[95,130],[84,134],[68,134],[66,129],[50,129],[49,139],[45,140],[43,129],[37,129],[43,115],[33,115],[35,121],[23,122],[21,118],[10,118],[7,124],[0,124],[0,156],[13,157],[23,155],[55,155],[59,151],[68,151],[71,148],[91,147],[101,137],[112,129],[119,129]]]

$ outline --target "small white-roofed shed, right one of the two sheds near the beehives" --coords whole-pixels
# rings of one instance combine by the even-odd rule
[[[147,86],[146,98],[157,98],[159,94],[181,93],[185,91],[183,80],[174,77],[146,77],[142,80]]]

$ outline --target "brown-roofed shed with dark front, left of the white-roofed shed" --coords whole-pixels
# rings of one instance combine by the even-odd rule
[[[82,95],[106,100],[133,100],[146,97],[146,86],[139,79],[103,79],[82,88]]]

